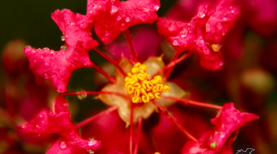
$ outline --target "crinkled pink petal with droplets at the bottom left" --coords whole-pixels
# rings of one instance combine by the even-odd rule
[[[84,140],[79,136],[67,106],[63,96],[57,97],[51,111],[44,109],[26,125],[18,127],[19,136],[27,141],[40,139],[53,142],[47,154],[82,153],[99,148],[101,141]]]

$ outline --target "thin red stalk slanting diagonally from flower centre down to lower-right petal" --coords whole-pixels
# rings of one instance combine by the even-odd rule
[[[183,132],[184,135],[186,135],[191,140],[194,140],[195,142],[199,142],[195,137],[193,137],[189,132],[187,132],[183,125],[174,116],[172,116],[165,107],[161,106],[159,103],[155,101],[153,102],[167,116],[167,118],[171,120]]]

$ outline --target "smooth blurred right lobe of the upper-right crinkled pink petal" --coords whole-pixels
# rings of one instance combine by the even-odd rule
[[[218,44],[225,34],[234,26],[240,15],[241,5],[237,0],[222,0],[216,11],[206,23],[205,40]]]

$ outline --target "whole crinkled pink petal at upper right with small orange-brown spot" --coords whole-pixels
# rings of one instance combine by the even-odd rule
[[[203,67],[218,70],[223,66],[220,48],[224,36],[238,19],[239,8],[235,0],[222,0],[216,8],[200,6],[190,22],[160,18],[158,30],[177,51],[196,51]]]

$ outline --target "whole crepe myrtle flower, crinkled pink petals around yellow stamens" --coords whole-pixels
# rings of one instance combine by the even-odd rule
[[[125,129],[130,130],[128,137],[129,152],[130,154],[136,154],[138,153],[143,120],[148,119],[154,112],[160,111],[172,124],[177,126],[184,137],[191,140],[191,142],[184,145],[183,153],[217,153],[224,150],[223,146],[228,146],[230,152],[233,140],[230,137],[231,134],[236,132],[243,124],[258,117],[250,113],[239,112],[232,103],[227,103],[221,107],[184,99],[186,92],[177,84],[168,81],[168,76],[177,63],[191,54],[190,51],[179,59],[178,56],[175,56],[168,64],[163,63],[162,57],[149,57],[145,61],[138,60],[138,53],[134,48],[128,28],[139,23],[155,22],[158,19],[156,11],[159,7],[159,0],[129,0],[126,2],[120,2],[119,0],[88,0],[86,15],[74,14],[67,9],[56,10],[52,13],[53,20],[64,34],[62,40],[66,44],[59,51],[49,50],[48,48],[34,49],[26,47],[24,52],[29,59],[30,69],[33,73],[38,78],[49,79],[58,92],[66,91],[66,84],[72,71],[82,67],[95,68],[106,76],[110,83],[103,87],[101,91],[79,91],[61,94],[54,101],[51,111],[49,109],[42,110],[36,118],[18,128],[22,138],[24,139],[24,136],[46,137],[48,141],[52,142],[47,153],[57,151],[59,153],[93,153],[95,149],[100,148],[101,142],[94,138],[89,140],[81,138],[78,134],[78,128],[99,117],[108,116],[111,112],[117,111],[120,119],[126,124]],[[195,49],[200,54],[204,54],[205,59],[207,59],[206,55],[209,56],[212,52],[219,51],[220,45],[218,43],[220,43],[223,33],[226,33],[230,27],[229,24],[227,28],[222,26],[223,29],[214,34],[212,33],[216,27],[214,22],[219,20],[220,17],[221,19],[217,21],[219,24],[222,24],[221,21],[229,20],[232,23],[233,18],[236,17],[230,15],[232,13],[232,10],[230,10],[228,15],[226,14],[226,19],[223,19],[220,14],[226,10],[226,7],[229,9],[231,7],[235,8],[235,6],[226,3],[225,0],[220,2],[217,7],[203,6],[191,22],[178,24],[177,27],[172,29],[174,32],[171,32],[165,26],[159,27],[159,31],[171,36],[171,43],[179,49],[178,54],[182,50]],[[237,10],[235,10],[235,14],[237,14]],[[209,19],[212,19],[210,23],[211,34],[205,33],[205,26],[209,23]],[[161,23],[161,20],[163,19],[160,19],[158,23]],[[167,25],[167,22],[165,20],[166,24],[164,25]],[[90,30],[92,27],[94,27],[96,35],[103,43],[114,40],[118,34],[124,31],[130,47],[131,58],[116,62],[96,49],[95,47],[99,43],[91,37]],[[209,35],[206,36],[205,34]],[[206,43],[204,37],[213,40]],[[178,44],[175,43],[175,39],[177,39],[177,42],[179,41]],[[208,44],[211,44],[211,46]],[[216,46],[214,47],[213,44]],[[213,51],[210,51],[210,47]],[[108,75],[90,61],[88,57],[90,49],[114,64],[116,67],[114,77]],[[215,63],[216,66],[220,65],[220,62]],[[218,67],[212,68],[218,69]],[[97,98],[110,108],[79,124],[73,124],[69,118],[70,111],[66,110],[68,104],[65,101],[65,95],[78,95],[78,97],[98,95]],[[215,128],[197,139],[167,110],[167,107],[176,102],[219,110],[219,115],[211,120]],[[138,124],[136,141],[134,141],[134,124]],[[109,127],[109,123],[106,123],[106,125]],[[190,146],[187,148],[187,145]]]

